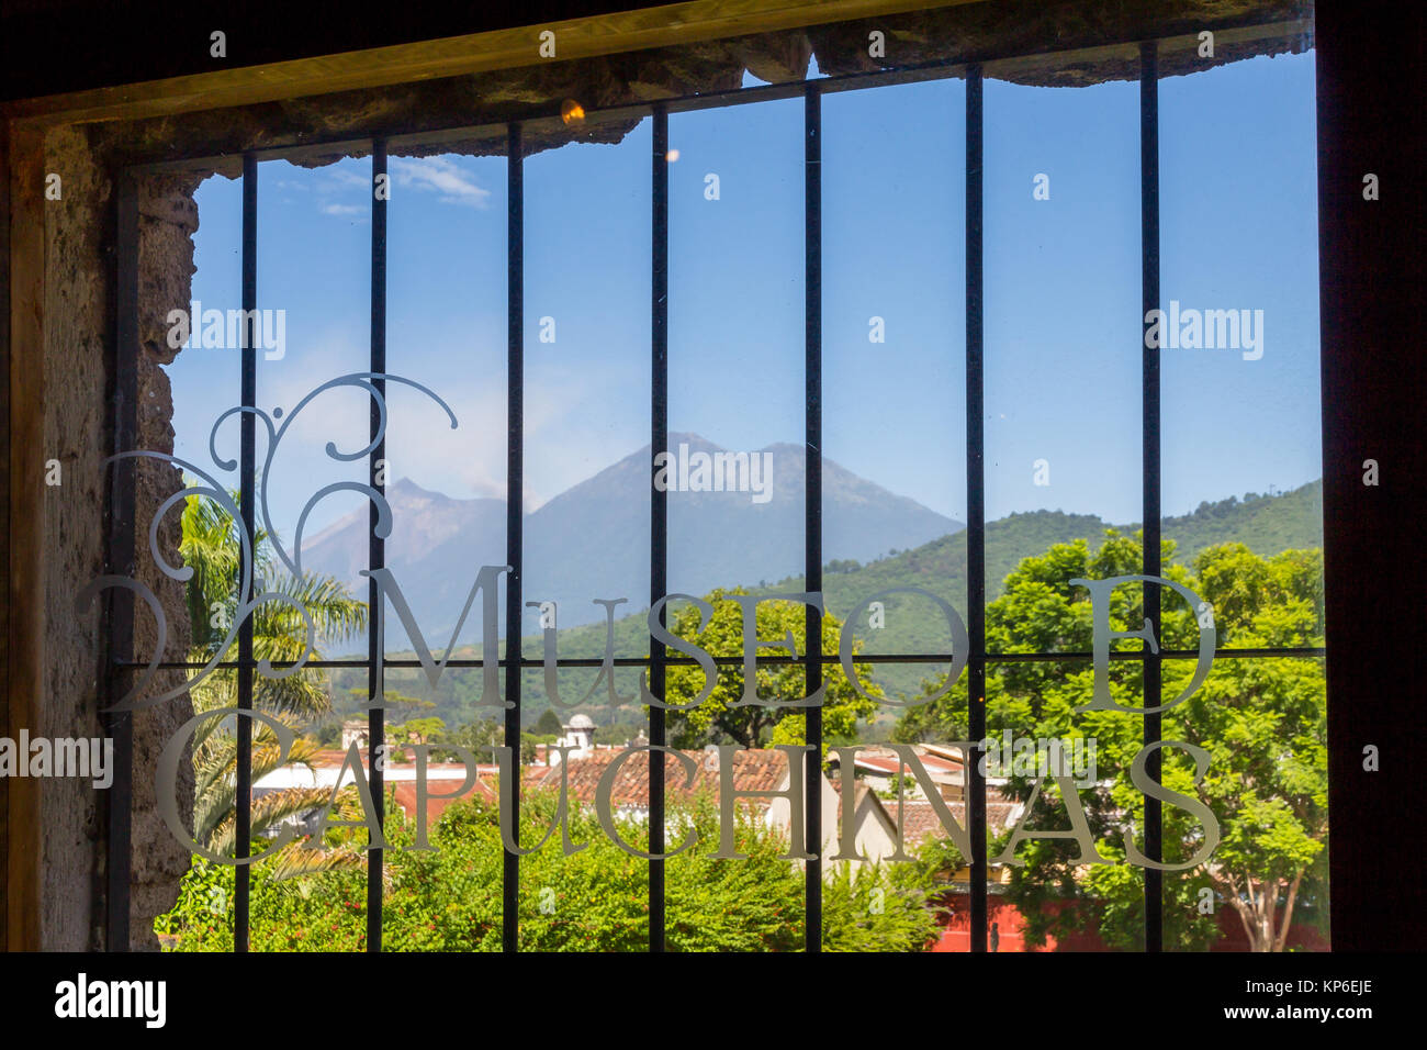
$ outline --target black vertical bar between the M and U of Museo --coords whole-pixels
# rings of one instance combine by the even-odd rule
[[[505,380],[505,561],[511,566],[505,587],[505,746],[511,749],[512,783],[507,791],[515,827],[511,834],[519,844],[521,811],[521,574],[522,540],[521,491],[525,484],[525,176],[522,167],[521,126],[507,133],[507,380]],[[501,870],[501,949],[519,950],[521,859],[505,850]]]

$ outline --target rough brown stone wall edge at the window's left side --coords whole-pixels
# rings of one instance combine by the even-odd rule
[[[40,704],[49,737],[103,736],[100,674],[104,660],[101,603],[76,610],[76,596],[106,571],[108,527],[104,459],[113,447],[110,344],[113,330],[114,187],[101,150],[81,129],[59,129],[46,140],[46,171],[61,177],[61,199],[46,213],[44,449],[60,461],[61,484],[46,489],[46,684]],[[138,447],[173,451],[173,400],[160,364],[174,351],[163,339],[163,316],[187,306],[193,276],[195,180],[150,180],[140,190]],[[41,364],[41,363],[37,363]],[[163,576],[148,553],[148,521],[178,490],[176,469],[153,461],[137,470],[136,571],[158,596],[168,624],[166,659],[181,660],[188,619],[181,586]],[[160,546],[176,560],[177,509],[166,516]],[[147,606],[136,603],[134,657],[157,644]],[[177,684],[176,671],[164,686]],[[187,700],[134,716],[131,946],[156,949],[156,914],[171,907],[188,854],[154,806],[158,751],[191,717]],[[180,811],[191,809],[193,771],[180,767]],[[44,884],[41,936],[46,950],[101,946],[106,806],[117,794],[88,780],[50,779],[41,791]]]

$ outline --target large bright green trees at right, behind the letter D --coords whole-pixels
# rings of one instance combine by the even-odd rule
[[[1240,543],[1210,547],[1194,560],[1193,574],[1173,561],[1174,544],[1162,550],[1163,576],[1187,586],[1213,610],[1219,647],[1313,647],[1323,644],[1323,567],[1317,550],[1286,550],[1261,559]],[[1106,579],[1140,571],[1139,537],[1106,531],[1092,551],[1083,540],[1050,547],[1020,563],[1002,597],[986,609],[989,651],[1089,651],[1089,591],[1072,579]],[[1197,610],[1160,589],[1164,649],[1196,650]],[[1113,630],[1143,624],[1142,587],[1117,587],[1110,603]],[[1113,649],[1133,650],[1137,640]],[[1163,661],[1163,701],[1189,684],[1193,660]],[[1114,703],[1143,706],[1137,660],[1112,661]],[[930,689],[929,683],[929,689]],[[987,734],[1009,729],[1015,737],[1096,741],[1100,781],[1080,790],[1097,851],[1112,866],[1079,866],[1073,841],[1036,839],[1017,849],[1023,867],[1012,869],[1009,896],[1026,916],[1032,941],[1066,933],[1083,913],[1049,907],[1079,896],[1099,910],[1102,934],[1112,944],[1136,947],[1143,936],[1143,877],[1124,860],[1124,829],[1143,847],[1143,796],[1130,781],[1130,766],[1143,746],[1143,716],[1090,710],[1076,714],[1093,693],[1093,669],[1083,659],[993,664],[986,676]],[[1203,890],[1234,909],[1250,946],[1283,950],[1289,927],[1307,899],[1321,916],[1326,891],[1327,760],[1326,687],[1321,661],[1307,659],[1220,657],[1207,681],[1189,700],[1164,711],[1162,739],[1209,750],[1209,773],[1197,787],[1193,761],[1182,749],[1164,749],[1162,779],[1182,794],[1199,797],[1214,813],[1222,840],[1197,869],[1166,873],[1166,943],[1204,949],[1219,937],[1217,920],[1202,911]],[[936,703],[909,710],[898,724],[902,740],[965,739],[966,691],[959,684]],[[1030,799],[1037,779],[1010,777],[1006,793]],[[1182,863],[1203,841],[1193,814],[1163,807],[1164,860]],[[1067,826],[1063,800],[1046,781],[1029,827]],[[992,849],[1000,851],[1009,836]]]

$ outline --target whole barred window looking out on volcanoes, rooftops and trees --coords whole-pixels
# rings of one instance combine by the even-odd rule
[[[939,900],[952,926],[935,931],[942,944],[985,951],[1046,943],[1065,913],[1090,900],[1113,916],[1113,946],[1199,946],[1223,936],[1222,910],[1243,914],[1237,894],[1254,896],[1243,879],[1260,876],[1274,897],[1280,883],[1291,886],[1290,913],[1324,914],[1326,789],[1299,790],[1300,783],[1293,799],[1226,801],[1239,813],[1260,807],[1263,820],[1280,829],[1291,824],[1299,841],[1297,853],[1276,854],[1261,871],[1253,867],[1253,850],[1241,851],[1241,871],[1217,880],[1203,870],[1153,867],[1196,856],[1213,831],[1193,819],[1197,810],[1166,804],[1167,796],[1147,791],[1129,773],[1143,767],[1136,777],[1157,787],[1163,760],[1166,786],[1194,789],[1204,776],[1194,756],[1213,754],[1229,731],[1204,710],[1206,700],[1227,709],[1253,697],[1236,710],[1257,719],[1260,733],[1291,720],[1280,760],[1300,780],[1326,780],[1324,647],[1313,601],[1321,594],[1320,561],[1280,556],[1294,546],[1260,550],[1279,540],[1297,543],[1304,527],[1320,529],[1311,486],[1299,490],[1317,469],[1317,333],[1304,320],[1316,316],[1313,193],[1303,174],[1311,156],[1304,123],[1311,66],[1296,56],[1260,69],[1270,61],[1264,59],[1162,80],[1162,53],[1182,56],[1186,46],[1182,39],[1143,44],[1137,83],[1083,89],[1016,84],[1015,60],[1007,59],[878,73],[818,70],[801,84],[749,83],[614,111],[575,106],[578,116],[567,103],[559,117],[442,133],[481,143],[479,157],[437,151],[438,136],[392,136],[347,147],[352,159],[317,176],[300,173],[283,151],[253,151],[237,189],[205,187],[218,214],[227,214],[220,221],[228,236],[241,230],[240,266],[225,267],[228,287],[214,294],[237,299],[267,326],[265,310],[277,309],[265,307],[270,289],[281,289],[285,301],[303,307],[290,311],[285,329],[274,319],[271,331],[315,351],[304,349],[301,367],[278,371],[268,367],[283,360],[278,347],[250,337],[240,367],[224,379],[228,390],[213,386],[207,371],[186,380],[193,394],[183,413],[237,396],[240,410],[211,437],[214,459],[233,461],[233,510],[250,533],[268,530],[270,559],[288,561],[290,554],[287,567],[297,569],[298,533],[317,546],[347,527],[354,511],[368,537],[361,576],[370,583],[357,597],[375,614],[334,613],[325,631],[331,641],[365,636],[365,654],[310,666],[364,701],[378,690],[387,696],[385,707],[362,709],[367,736],[352,744],[364,753],[365,770],[351,771],[370,780],[377,811],[388,789],[397,800],[402,791],[401,763],[388,777],[385,760],[374,760],[378,749],[417,749],[420,766],[427,747],[435,761],[412,729],[420,706],[445,710],[444,701],[458,700],[462,711],[498,726],[497,739],[478,740],[477,733],[467,743],[507,749],[501,776],[489,770],[502,804],[557,787],[571,770],[569,757],[561,769],[549,763],[542,770],[537,756],[548,763],[554,751],[575,746],[601,757],[589,730],[596,741],[601,730],[645,734],[648,746],[632,736],[619,741],[631,744],[642,766],[611,753],[599,767],[616,787],[616,763],[642,770],[644,793],[631,789],[621,803],[631,821],[625,831],[639,834],[631,827],[642,823],[636,849],[671,854],[626,869],[612,883],[646,903],[646,917],[629,919],[624,910],[615,921],[611,943],[625,949],[679,946],[685,941],[676,930],[709,921],[692,894],[671,889],[708,873],[701,867],[706,859],[675,854],[689,821],[698,821],[684,813],[679,784],[701,777],[725,783],[722,763],[729,760],[686,754],[698,751],[698,731],[711,743],[742,743],[748,753],[766,751],[759,744],[769,743],[812,749],[736,759],[766,763],[745,784],[759,784],[748,790],[772,799],[755,807],[755,820],[782,819],[793,837],[788,847],[801,899],[789,913],[765,917],[763,936],[779,947],[821,950],[833,936],[836,907],[872,907],[868,886],[839,881],[841,861],[829,859],[848,827],[862,829],[866,820],[873,829],[866,834],[882,829],[912,846],[912,831],[946,830],[943,810],[965,827],[966,849],[919,861],[935,860],[943,879]],[[1241,106],[1244,97],[1261,109]],[[1164,134],[1166,111],[1176,117],[1172,136]],[[1194,129],[1203,126],[1196,121],[1230,116],[1283,127],[1281,140],[1254,159],[1251,174],[1239,170],[1244,183],[1206,164],[1194,147]],[[604,129],[618,144],[575,141],[575,133],[562,131],[569,127]],[[562,134],[558,149],[531,147]],[[340,221],[314,226],[305,239],[310,210],[284,210],[288,181],[293,194],[331,183],[321,214]],[[411,204],[424,190],[471,209],[455,211],[450,224],[435,221],[430,209]],[[230,200],[220,204],[224,194]],[[120,250],[133,253],[134,197],[123,196],[118,207],[128,237]],[[1247,273],[1229,269],[1217,241],[1203,236],[1206,223],[1224,221],[1257,223],[1263,251]],[[1290,256],[1293,266],[1281,267]],[[203,281],[207,266],[200,256]],[[121,331],[134,331],[138,294],[137,281],[121,286]],[[1249,301],[1247,310],[1239,299]],[[1162,309],[1166,316],[1153,320]],[[1197,341],[1156,341],[1172,329],[1187,333],[1180,327],[1187,310],[1202,311]],[[1281,354],[1264,341],[1266,330],[1280,339],[1280,323]],[[1210,324],[1220,340],[1213,346]],[[207,336],[198,334],[198,317],[193,326],[200,346]],[[345,337],[324,346],[321,333],[342,326]],[[367,353],[354,356],[362,341]],[[1170,356],[1174,349],[1200,356]],[[1260,359],[1267,364],[1251,371]],[[184,367],[180,357],[176,377]],[[307,391],[341,376],[348,379],[325,394],[327,407],[313,401],[304,416],[320,426],[287,430]],[[1264,393],[1269,387],[1277,401]],[[1214,409],[1206,411],[1210,400]],[[455,403],[475,411],[458,413]],[[459,427],[445,426],[458,416]],[[557,416],[558,424],[551,421]],[[190,430],[177,411],[176,419],[180,447],[207,451],[205,431]],[[1236,456],[1241,446],[1226,434],[1244,431],[1260,434],[1264,456]],[[131,433],[121,431],[121,441]],[[295,454],[283,463],[287,473],[277,473],[271,450],[288,433]],[[621,443],[625,456],[595,459],[594,450]],[[120,450],[127,450],[123,443]],[[705,457],[704,467],[718,463],[728,471],[723,496],[746,499],[714,507],[716,487],[694,480],[704,469],[696,456]],[[467,509],[474,517],[451,536],[425,531],[434,520],[430,490],[408,480],[404,499],[395,499],[397,479],[410,479],[405,464],[418,460],[440,461],[437,473],[467,484],[475,493],[469,501],[484,500]],[[464,474],[451,467],[461,460]],[[1209,504],[1214,486],[1249,484],[1243,471],[1250,469],[1271,470],[1294,493],[1234,499],[1219,510]],[[131,483],[133,471],[118,477]],[[280,510],[298,511],[288,513],[290,521],[303,520],[304,510],[315,510],[318,477],[337,487],[311,529],[295,521],[273,527],[258,500],[270,497]],[[213,487],[215,496],[225,491],[221,483]],[[896,520],[868,510],[912,489],[918,503],[902,499],[896,506],[905,513]],[[131,499],[117,491],[120,500]],[[542,503],[551,496],[557,499]],[[1199,510],[1190,506],[1196,497],[1204,504]],[[347,519],[335,510],[341,500]],[[382,520],[388,503],[395,511],[390,530]],[[555,510],[542,516],[547,506]],[[123,513],[116,520],[128,530],[144,524]],[[1104,536],[1106,526],[1127,523]],[[130,531],[114,543],[123,549],[133,539]],[[1174,563],[1162,540],[1194,554],[1234,540],[1251,550]],[[418,574],[424,547],[451,561],[444,576],[424,579],[418,593],[405,580]],[[250,554],[243,564],[261,557]],[[481,566],[509,571],[477,577]],[[260,573],[268,583],[283,579],[277,561],[258,567],[273,570]],[[1187,607],[1173,589],[1140,579],[1183,583],[1190,571],[1200,586],[1196,596],[1222,584],[1209,609]],[[1077,573],[1085,573],[1079,584],[1072,583],[1082,579]],[[1132,577],[1095,601],[1110,601],[1116,623],[1134,627],[1147,619],[1157,644],[1122,634],[1102,669],[1092,639],[1103,631],[1092,630],[1095,603],[1087,600],[1096,591],[1085,580],[1103,577]],[[870,591],[855,586],[869,583],[876,583]],[[1257,590],[1246,597],[1236,590],[1240,583]],[[725,706],[728,717],[712,730],[688,711],[658,706],[646,721],[631,720],[641,674],[665,700],[675,680],[702,677],[691,671],[694,657],[678,654],[684,650],[651,644],[641,610],[666,594],[686,596],[665,607],[664,620],[674,627],[698,609],[689,597],[738,584],[755,594],[825,597],[821,610],[805,603],[801,623],[788,626],[795,637],[822,637],[821,651],[809,651],[806,641],[793,653],[768,646],[758,663],[788,679],[788,691],[778,696],[825,686],[838,703],[799,709],[793,721],[769,709],[776,717],[768,724]],[[591,599],[625,599],[628,607],[606,614]],[[1277,611],[1269,609],[1274,601]],[[725,611],[728,603],[723,594]],[[131,624],[123,604],[120,596],[116,637]],[[606,616],[614,624],[612,687],[629,699],[624,711],[602,703]],[[648,616],[658,620],[659,613]],[[231,674],[233,706],[250,710],[254,690],[271,676],[260,664],[267,653],[255,617],[234,623],[213,624],[223,633],[213,640],[213,656],[218,671]],[[888,623],[915,627],[886,630]],[[1203,694],[1193,706],[1173,714],[1136,711],[1177,707],[1172,701],[1207,663],[1200,646],[1216,623],[1223,631],[1217,663],[1207,681],[1196,683]],[[1249,641],[1240,644],[1240,636]],[[852,680],[842,670],[841,637],[856,643]],[[489,663],[495,639],[504,641],[499,667]],[[738,643],[708,644],[716,679],[733,681],[742,673]],[[228,651],[234,646],[235,659]],[[552,646],[558,667],[542,674]],[[291,666],[291,657],[273,659],[278,673]],[[131,671],[148,666],[146,654],[121,663]],[[1086,711],[1077,697],[1099,689],[1102,677],[1120,710],[1089,706],[1089,717],[1076,717]],[[582,714],[564,721],[567,710],[549,703],[552,681],[567,699],[598,696],[591,707],[608,721],[585,726],[575,721],[588,717]],[[114,689],[118,699],[128,686]],[[538,711],[549,707],[559,719],[558,734],[535,733],[529,716],[537,697]],[[405,717],[398,721],[394,711]],[[231,730],[238,857],[247,856],[261,801],[253,749],[263,750],[265,731],[281,736],[257,721],[240,717]],[[983,761],[985,749],[956,746],[982,740],[1006,751],[1007,767],[1026,741],[1036,761],[1052,743],[1066,749],[1093,801],[1077,813],[1065,796],[1065,777],[1053,770],[1002,769],[1000,759]],[[1076,741],[1096,740],[1104,776],[1077,766],[1086,753]],[[859,759],[859,744],[875,756]],[[912,751],[919,773],[892,744],[919,747]],[[666,746],[679,754],[648,750]],[[818,760],[823,746],[832,763],[826,776]],[[521,756],[524,770],[515,764]],[[1233,760],[1227,753],[1212,757],[1222,766]],[[799,773],[801,834],[799,807],[773,796],[796,790]],[[1056,793],[1069,829],[1045,823]],[[1096,841],[1123,843],[1122,856],[1104,857],[1103,867],[1083,850],[1077,856],[1079,819]],[[501,840],[489,829],[484,834],[494,856]],[[1035,840],[1029,850],[1026,839]],[[1047,839],[1056,843],[1049,850]],[[796,856],[802,847],[816,856]],[[559,843],[551,839],[545,849],[554,853]],[[414,933],[384,907],[382,864],[391,850],[358,851],[365,854],[365,897],[344,900],[351,937],[341,943],[380,950],[400,930],[401,947],[448,946]],[[1150,863],[1130,863],[1132,853]],[[547,921],[547,891],[558,897],[558,889],[529,873],[552,880],[558,864],[532,857],[505,847],[498,901],[485,887],[469,889],[485,903],[469,917],[472,929],[459,934],[462,946],[552,943],[557,923]],[[1294,866],[1294,857],[1303,863]],[[1060,876],[1076,893],[1052,899],[1047,887]],[[250,866],[233,873],[238,950],[254,943],[261,923],[281,924],[281,916],[253,911],[254,879]],[[1309,899],[1297,899],[1300,891]],[[1277,901],[1269,907],[1283,921]],[[1065,933],[1060,940],[1070,946]]]

